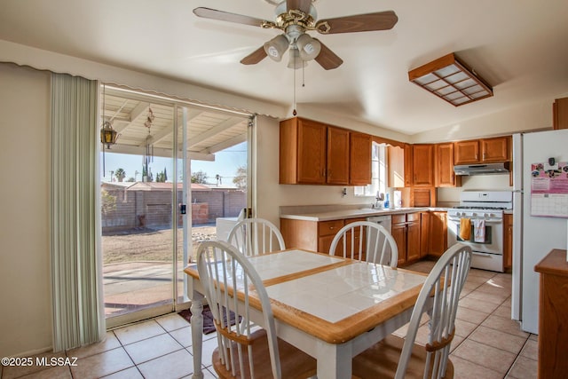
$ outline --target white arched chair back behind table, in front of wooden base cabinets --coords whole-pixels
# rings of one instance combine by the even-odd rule
[[[343,226],[337,233],[329,254],[349,257],[396,267],[398,264],[398,247],[392,235],[384,226],[370,221],[356,221]]]

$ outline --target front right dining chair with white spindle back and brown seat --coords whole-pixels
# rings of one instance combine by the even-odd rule
[[[390,335],[353,359],[358,378],[453,378],[449,359],[461,288],[468,277],[471,249],[456,243],[447,249],[424,283],[406,338]],[[427,304],[432,302],[432,307]],[[415,343],[422,312],[429,308],[430,335],[425,346]]]

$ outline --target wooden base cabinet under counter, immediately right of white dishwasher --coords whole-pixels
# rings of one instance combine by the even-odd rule
[[[398,247],[398,266],[420,259],[420,212],[392,215],[391,234]]]

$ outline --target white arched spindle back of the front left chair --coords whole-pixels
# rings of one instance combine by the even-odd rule
[[[251,320],[251,304],[260,303],[272,375],[280,379],[280,355],[272,306],[263,281],[248,258],[224,241],[201,242],[197,268],[215,320],[219,356],[233,376],[255,378],[251,338],[258,329]],[[243,354],[247,349],[248,354]],[[248,361],[243,358],[248,355]],[[247,374],[245,374],[247,373]]]

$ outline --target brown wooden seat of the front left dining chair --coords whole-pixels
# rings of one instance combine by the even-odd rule
[[[255,377],[272,378],[271,361],[268,359],[268,339],[264,329],[257,330],[251,336],[254,340],[252,343],[253,361],[255,362]],[[237,344],[233,343],[233,349],[237,348]],[[307,378],[315,375],[317,370],[316,359],[312,358],[304,351],[296,349],[291,344],[278,339],[278,349],[280,351],[280,367],[282,370],[282,378]],[[236,351],[236,350],[235,350]],[[218,347],[213,351],[213,367],[219,375],[219,378],[249,378],[248,375],[248,350],[246,347],[242,348],[243,361],[245,364],[245,376],[241,376],[239,367],[237,368],[237,375],[233,376],[231,369],[227,370],[225,365],[221,363]]]

